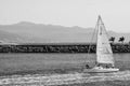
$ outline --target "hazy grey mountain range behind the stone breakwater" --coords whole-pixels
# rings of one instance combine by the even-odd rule
[[[0,39],[17,42],[36,43],[87,43],[91,41],[94,32],[93,28],[63,27],[54,25],[43,25],[22,22],[14,25],[0,25]],[[109,35],[118,38],[125,37],[126,42],[130,41],[130,33],[116,33],[109,31]],[[117,41],[116,40],[116,41]]]

